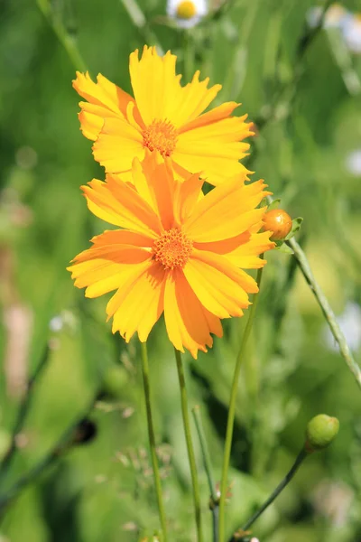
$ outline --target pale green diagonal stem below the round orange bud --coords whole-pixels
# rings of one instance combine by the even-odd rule
[[[295,238],[287,241],[287,244],[292,248],[294,257],[296,258],[297,263],[301,268],[301,272],[305,277],[308,285],[310,286],[311,291],[316,297],[322,313],[324,314],[326,321],[329,324],[329,329],[335,337],[335,340],[338,342],[339,350],[343,359],[347,363],[348,369],[350,369],[356,379],[357,385],[359,386],[359,388],[361,388],[361,369],[357,365],[356,360],[354,360],[352,352],[348,347],[345,335],[343,334],[341,328],[338,325],[335,313],[332,311],[329,305],[329,301],[325,297],[325,294],[323,294],[321,288],[319,287],[319,284],[313,276],[313,273],[310,269],[310,264],[305,253],[303,252],[302,248],[300,247]]]

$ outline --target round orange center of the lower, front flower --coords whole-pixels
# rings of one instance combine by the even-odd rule
[[[165,269],[184,267],[190,259],[193,242],[186,238],[177,228],[164,231],[155,239],[153,244],[153,257]]]

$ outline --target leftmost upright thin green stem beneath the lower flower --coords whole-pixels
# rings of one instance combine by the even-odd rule
[[[167,522],[166,522],[165,513],[164,513],[164,505],[163,505],[163,500],[162,500],[162,483],[161,483],[161,477],[159,474],[158,459],[157,459],[157,453],[156,453],[156,447],[155,447],[153,415],[152,415],[152,406],[151,406],[151,388],[150,388],[150,382],[149,382],[148,351],[147,351],[146,342],[142,342],[142,371],[143,371],[143,389],[144,389],[144,398],[145,398],[145,408],[146,408],[147,425],[148,425],[148,439],[149,439],[149,447],[151,449],[155,492],[157,496],[159,519],[162,526],[162,536],[163,536],[164,542],[167,542]]]

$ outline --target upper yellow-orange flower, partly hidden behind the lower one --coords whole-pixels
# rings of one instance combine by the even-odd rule
[[[231,117],[239,105],[227,102],[203,113],[216,98],[221,85],[208,89],[208,79],[180,86],[175,74],[177,57],[168,51],[160,57],[155,47],[130,55],[130,77],[134,98],[102,75],[97,83],[88,72],[77,72],[74,89],[88,102],[80,102],[83,134],[95,141],[94,157],[107,173],[129,173],[134,157],[143,160],[146,149],[170,157],[179,178],[202,172],[218,185],[227,176],[249,173],[238,160],[249,148],[241,143],[252,135],[252,123]]]

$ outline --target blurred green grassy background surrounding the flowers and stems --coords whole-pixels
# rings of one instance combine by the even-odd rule
[[[128,55],[149,30],[194,70],[224,84],[219,101],[240,101],[258,123],[249,167],[282,207],[304,222],[298,238],[360,360],[361,55],[336,28],[308,32],[308,0],[236,0],[185,39],[164,24],[165,5],[140,4],[149,25],[134,27],[119,0],[39,0],[61,25],[93,76],[127,91]],[[355,2],[345,2],[355,13]],[[358,5],[360,9],[361,6]],[[310,30],[310,29],[309,29]],[[1,542],[134,542],[158,527],[148,457],[136,340],[126,346],[105,322],[106,299],[84,300],[65,270],[104,224],[89,216],[79,185],[103,177],[79,132],[75,68],[36,2],[0,4],[0,455],[5,455],[24,383],[32,387],[16,452],[0,483],[0,503],[88,416],[96,435],[60,451],[1,509]],[[184,79],[184,78],[183,78]],[[358,86],[357,86],[358,82]],[[351,158],[350,158],[351,155]],[[354,154],[354,163],[355,163]],[[359,161],[361,158],[359,158]],[[348,166],[347,166],[348,164]],[[239,528],[291,467],[311,416],[338,416],[337,441],[312,455],[255,524],[269,542],[361,540],[361,392],[326,331],[292,256],[267,256],[264,285],[236,408],[227,532]],[[345,311],[347,315],[345,316]],[[245,319],[244,319],[245,320]],[[217,480],[227,402],[244,322],[199,360],[186,355],[191,405],[199,404]],[[190,473],[171,344],[162,320],[149,341],[157,440],[171,540],[195,540]],[[210,535],[208,486],[197,443],[203,522]],[[1,507],[0,507],[1,508]]]

